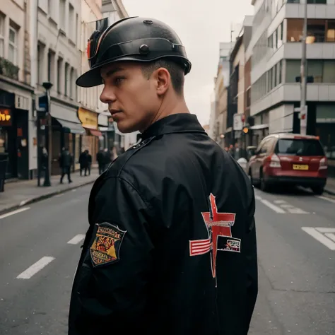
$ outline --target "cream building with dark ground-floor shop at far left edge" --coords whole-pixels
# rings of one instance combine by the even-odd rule
[[[0,156],[7,178],[30,178],[37,169],[27,1],[0,1]]]

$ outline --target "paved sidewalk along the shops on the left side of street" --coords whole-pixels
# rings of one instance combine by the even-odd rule
[[[6,183],[4,192],[0,193],[0,213],[14,210],[20,206],[25,206],[86,184],[93,184],[98,176],[98,169],[93,167],[90,176],[87,177],[81,177],[79,172],[72,173],[71,180],[73,182],[71,184],[69,184],[67,176],[64,177],[63,184],[59,182],[60,176],[52,176],[52,186],[50,187],[37,187],[37,179]],[[44,180],[41,179],[41,185],[43,182]]]

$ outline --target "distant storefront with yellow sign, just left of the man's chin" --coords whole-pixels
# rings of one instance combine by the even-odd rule
[[[95,162],[99,150],[99,139],[102,137],[101,131],[98,130],[98,113],[79,107],[78,118],[86,130],[81,138],[81,151],[88,150]]]

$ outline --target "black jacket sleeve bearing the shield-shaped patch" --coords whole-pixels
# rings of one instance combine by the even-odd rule
[[[71,322],[78,334],[98,334],[111,323],[111,331],[141,329],[153,271],[150,209],[119,177],[105,180],[93,201],[94,228],[76,275],[79,306]]]

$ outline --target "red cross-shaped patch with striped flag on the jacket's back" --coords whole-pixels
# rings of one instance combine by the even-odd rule
[[[209,196],[210,208],[209,212],[201,213],[206,224],[208,239],[206,240],[193,240],[189,241],[189,255],[198,256],[211,252],[211,268],[213,278],[216,278],[216,254],[218,250],[228,251],[228,247],[218,248],[218,237],[229,237],[231,245],[229,251],[240,252],[241,240],[232,237],[231,228],[235,223],[234,213],[218,213],[216,207],[215,196]],[[226,241],[226,243],[228,240]],[[238,246],[237,246],[237,242]],[[237,251],[238,249],[238,251]]]

